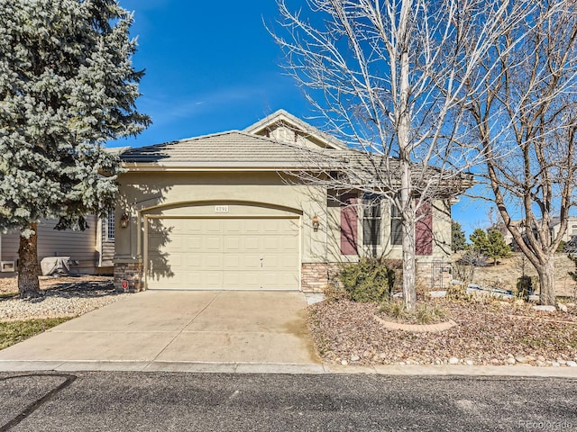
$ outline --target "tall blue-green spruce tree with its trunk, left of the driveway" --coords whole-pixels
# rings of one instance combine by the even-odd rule
[[[101,147],[150,123],[137,112],[129,36],[115,0],[3,0],[0,229],[19,229],[18,288],[40,293],[37,223],[86,229],[114,207],[118,158]]]

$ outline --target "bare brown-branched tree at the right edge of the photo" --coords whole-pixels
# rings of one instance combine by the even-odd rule
[[[476,129],[471,144],[483,157],[490,201],[535,266],[541,302],[555,304],[554,252],[575,204],[577,12],[574,0],[536,4],[460,82],[468,86],[463,107]]]

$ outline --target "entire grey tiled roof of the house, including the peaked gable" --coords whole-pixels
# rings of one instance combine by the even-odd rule
[[[309,146],[302,142],[286,142],[262,136],[275,126],[288,126],[305,133]],[[367,155],[348,148],[343,142],[316,130],[305,121],[280,110],[245,130],[229,130],[211,135],[180,139],[142,148],[131,148],[121,154],[130,171],[286,171],[339,172],[347,184],[373,184],[375,179],[397,176],[398,159],[382,155]],[[417,164],[416,164],[416,168]],[[314,175],[314,174],[313,174]],[[439,188],[448,193],[462,191],[472,185],[472,176],[464,173],[442,173],[433,166],[425,172],[413,173],[415,184],[431,184],[435,177],[443,178]],[[398,178],[391,179],[393,183]],[[447,187],[448,186],[448,187]]]

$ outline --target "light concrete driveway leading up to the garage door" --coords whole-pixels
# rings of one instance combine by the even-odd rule
[[[123,362],[124,369],[162,364],[166,370],[167,364],[192,363],[219,364],[224,371],[230,365],[320,365],[306,307],[303,293],[136,293],[0,351],[0,364],[106,369]]]

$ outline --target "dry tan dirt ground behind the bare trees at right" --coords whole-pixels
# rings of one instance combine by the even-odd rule
[[[525,275],[533,279],[533,286],[538,292],[539,279],[536,271],[531,264],[525,259],[523,262],[522,254],[515,253],[509,258],[499,261],[497,266],[490,263],[486,267],[474,267],[472,283],[481,286],[494,286],[506,290],[514,290],[517,286],[517,278],[523,274],[525,266]],[[556,293],[558,296],[575,298],[577,296],[577,284],[572,280],[567,272],[575,271],[575,265],[565,254],[555,256],[555,282]],[[453,277],[458,279],[459,271],[456,266],[453,267]]]

